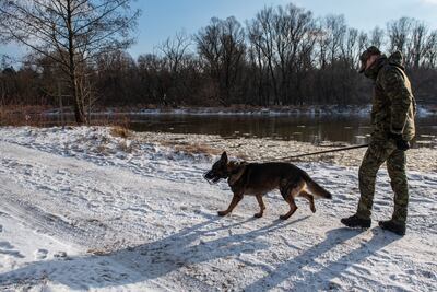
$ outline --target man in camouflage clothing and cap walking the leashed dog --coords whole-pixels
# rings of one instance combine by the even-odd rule
[[[358,72],[375,81],[373,132],[359,167],[361,198],[357,212],[350,218],[343,218],[341,222],[349,227],[370,226],[376,174],[387,161],[391,188],[394,191],[394,211],[391,220],[380,221],[379,226],[404,235],[409,203],[405,151],[415,135],[415,101],[399,51],[387,58],[371,46],[361,55],[359,60],[362,67]]]

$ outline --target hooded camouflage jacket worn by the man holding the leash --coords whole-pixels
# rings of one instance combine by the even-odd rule
[[[371,107],[374,138],[386,139],[389,132],[402,133],[406,141],[414,138],[416,103],[402,61],[399,51],[389,58],[382,55],[365,72],[366,77],[375,80]]]

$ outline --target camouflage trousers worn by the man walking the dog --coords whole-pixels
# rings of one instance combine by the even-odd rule
[[[405,174],[405,152],[398,150],[394,142],[387,139],[373,139],[359,167],[359,203],[357,214],[370,218],[374,203],[375,180],[379,167],[387,161],[387,171],[394,191],[392,219],[405,223],[409,205],[409,186]]]

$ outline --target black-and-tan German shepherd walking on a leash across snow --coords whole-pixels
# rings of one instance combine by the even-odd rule
[[[234,192],[229,207],[218,211],[218,215],[231,213],[245,195],[255,196],[258,200],[260,211],[255,214],[261,218],[265,206],[262,196],[273,189],[280,189],[282,197],[290,206],[290,211],[280,217],[286,220],[297,210],[296,197],[303,197],[309,201],[312,212],[316,212],[315,197],[331,199],[332,195],[314,182],[309,175],[291,163],[246,163],[228,161],[226,152],[204,174],[204,178],[216,184],[220,179],[226,179]]]

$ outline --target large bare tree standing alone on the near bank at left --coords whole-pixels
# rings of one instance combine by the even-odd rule
[[[130,0],[1,0],[3,40],[16,42],[59,63],[66,74],[74,115],[86,121],[84,72],[103,52],[127,48],[139,10]],[[85,83],[83,83],[85,82]],[[86,94],[85,94],[86,95]]]

